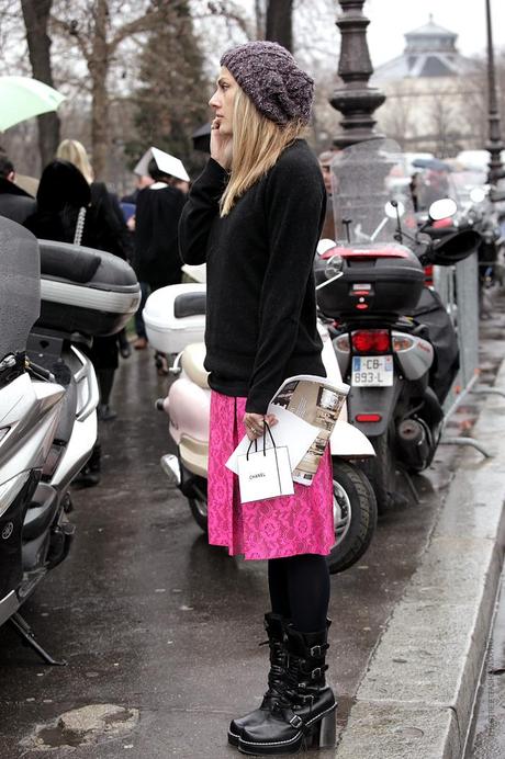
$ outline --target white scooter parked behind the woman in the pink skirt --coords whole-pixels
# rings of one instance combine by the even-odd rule
[[[205,285],[170,285],[153,293],[143,317],[152,347],[177,354],[170,373],[177,377],[166,398],[156,406],[169,416],[169,431],[177,455],[161,457],[170,483],[188,498],[194,520],[206,531],[206,473],[211,390],[204,370]],[[318,322],[327,376],[340,382],[340,370],[329,333]],[[357,428],[347,422],[344,407],[330,439],[334,476],[335,546],[328,556],[329,570],[343,571],[367,551],[377,523],[373,490],[356,461],[374,455],[373,448]]]

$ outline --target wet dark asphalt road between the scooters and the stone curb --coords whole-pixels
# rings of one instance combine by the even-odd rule
[[[486,330],[503,339],[501,327]],[[500,343],[486,349],[483,382],[503,355]],[[159,457],[173,449],[167,417],[154,408],[166,385],[149,351],[122,362],[113,390],[119,418],[101,427],[102,482],[74,494],[71,554],[23,607],[41,643],[68,666],[43,665],[9,627],[0,630],[1,759],[226,759],[236,756],[226,744],[228,721],[261,699],[266,564],[210,547],[184,499],[167,486]],[[465,404],[456,432],[480,403]],[[441,446],[428,475],[415,479],[419,502],[381,518],[361,563],[332,578],[329,678],[340,695],[340,727],[426,546],[457,457],[457,449]],[[60,715],[82,707],[90,709],[58,726]]]

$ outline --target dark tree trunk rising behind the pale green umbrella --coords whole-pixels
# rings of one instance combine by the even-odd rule
[[[50,65],[50,38],[47,33],[53,0],[21,0],[30,63],[34,79],[54,87]],[[43,113],[38,122],[38,149],[42,165],[55,156],[59,144],[59,116],[57,113]]]

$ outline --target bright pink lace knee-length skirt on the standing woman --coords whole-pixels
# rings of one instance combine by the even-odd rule
[[[247,559],[329,554],[335,543],[333,479],[326,449],[310,487],[294,495],[240,503],[238,477],[225,463],[244,437],[246,398],[212,392],[209,453],[209,543]]]

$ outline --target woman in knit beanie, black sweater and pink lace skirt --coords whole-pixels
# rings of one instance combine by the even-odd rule
[[[293,374],[325,375],[312,273],[325,217],[317,161],[301,138],[313,80],[276,43],[222,57],[210,105],[211,158],[180,223],[184,262],[207,263],[206,359],[212,388],[209,540],[268,559],[268,690],[234,720],[245,754],[291,754],[335,741],[336,702],[325,682],[329,575],[335,542],[329,452],[311,487],[240,505],[225,462],[244,432],[262,434],[268,403]]]

